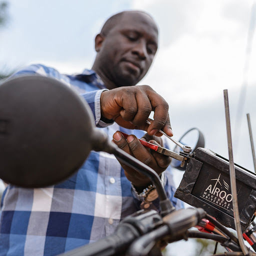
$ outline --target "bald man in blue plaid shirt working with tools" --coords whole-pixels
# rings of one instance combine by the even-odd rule
[[[157,37],[157,27],[148,14],[117,13],[95,37],[92,70],[63,75],[32,65],[15,75],[54,77],[78,91],[89,103],[95,124],[109,137],[113,135],[120,148],[161,175],[168,196],[179,207],[180,201],[173,198],[171,173],[162,174],[170,159],[150,152],[134,135],[126,140],[118,131],[140,137],[143,132],[137,129],[144,129],[145,140],[159,135],[159,129],[172,135],[165,100],[149,86],[133,86],[152,63]],[[151,110],[154,121],[148,126],[145,121]],[[157,208],[157,198],[151,204],[140,194],[151,186],[150,180],[122,167],[112,155],[92,151],[77,173],[55,186],[24,189],[8,185],[2,197],[0,255],[56,255],[111,234],[120,219],[140,207]]]

